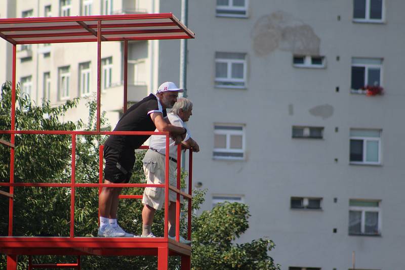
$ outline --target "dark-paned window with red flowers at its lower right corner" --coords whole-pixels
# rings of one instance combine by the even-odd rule
[[[367,85],[381,85],[381,58],[352,58],[351,60],[351,89],[358,92]],[[361,90],[360,90],[361,91]]]

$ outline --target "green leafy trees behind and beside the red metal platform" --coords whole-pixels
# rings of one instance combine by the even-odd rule
[[[96,103],[89,101],[89,121],[61,122],[67,110],[75,108],[78,100],[63,105],[51,106],[43,101],[39,106],[29,97],[20,96],[17,87],[16,129],[19,130],[95,130]],[[5,83],[1,92],[0,130],[11,128],[11,84]],[[105,126],[104,113],[101,125]],[[107,128],[108,129],[108,128]],[[0,139],[10,141],[10,136],[0,134]],[[77,183],[98,183],[99,147],[106,136],[77,136],[76,173]],[[15,182],[69,183],[71,162],[71,136],[61,135],[16,135],[15,138]],[[136,163],[132,183],[143,181],[142,158],[144,151],[136,152]],[[0,146],[0,182],[9,182],[10,149]],[[182,174],[183,183],[185,173]],[[8,191],[2,187],[1,190]],[[126,188],[123,194],[142,194],[142,189]],[[195,190],[193,210],[204,202],[205,191]],[[0,235],[8,231],[8,200],[0,196]],[[186,206],[186,205],[185,205]],[[181,231],[186,232],[186,209],[181,221]],[[122,200],[118,209],[120,226],[129,232],[141,234],[140,200]],[[75,197],[75,236],[95,237],[98,227],[98,189],[77,188]],[[249,209],[247,205],[225,203],[193,215],[192,224],[192,268],[193,269],[279,269],[268,251],[274,243],[268,239],[254,240],[246,244],[233,244],[248,229]],[[152,231],[163,236],[164,211],[157,211]],[[68,188],[15,188],[14,236],[68,236],[70,226],[70,189]],[[72,256],[35,256],[34,262],[68,262]],[[27,268],[28,258],[19,257],[19,269]],[[83,256],[84,269],[102,269],[114,265],[118,269],[156,269],[155,257],[100,257]],[[178,269],[179,258],[170,259],[170,268]],[[0,260],[0,268],[6,268],[6,256]]]

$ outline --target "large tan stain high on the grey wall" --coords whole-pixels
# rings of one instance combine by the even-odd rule
[[[251,37],[258,56],[266,56],[276,49],[298,55],[319,55],[320,38],[312,27],[283,11],[260,17]]]

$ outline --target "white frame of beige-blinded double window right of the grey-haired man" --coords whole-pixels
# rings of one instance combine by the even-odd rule
[[[241,127],[241,130],[236,129],[216,129],[215,126],[229,126],[229,127]],[[225,148],[216,148],[215,147],[215,135],[225,135]],[[230,137],[231,135],[238,135],[242,136],[242,148],[241,149],[231,149],[230,148]],[[244,124],[214,124],[214,150],[213,150],[213,158],[214,159],[227,159],[227,160],[245,160],[246,156],[246,126]],[[219,153],[237,153],[242,154],[241,157],[234,157],[234,156],[217,156],[215,155],[216,152]]]

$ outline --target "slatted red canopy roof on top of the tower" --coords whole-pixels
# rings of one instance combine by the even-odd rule
[[[0,19],[0,37],[13,44],[194,38],[172,13]]]

